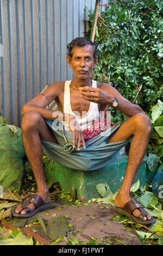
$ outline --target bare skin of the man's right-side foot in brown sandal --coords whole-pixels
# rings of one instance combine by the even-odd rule
[[[122,196],[122,194],[118,193],[115,200],[114,200],[114,204],[115,206],[117,206],[118,208],[122,208],[124,207],[124,205],[126,205],[126,203],[128,203],[131,200],[131,198],[129,196]],[[135,216],[136,218],[138,218],[142,212],[139,209],[135,209],[132,212],[133,216]],[[143,221],[150,221],[151,220],[151,215],[147,212],[146,217],[143,217]]]

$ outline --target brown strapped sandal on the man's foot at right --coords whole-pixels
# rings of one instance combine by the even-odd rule
[[[133,215],[133,211],[135,209],[139,209],[141,214],[139,215],[139,217],[135,217]],[[138,223],[138,224],[142,224],[142,225],[149,225],[149,224],[153,224],[155,223],[155,220],[153,217],[151,217],[151,220],[146,220],[143,221],[144,217],[147,217],[147,211],[145,211],[145,209],[143,209],[143,206],[141,204],[139,204],[137,202],[136,199],[131,199],[129,200],[123,208],[121,207],[115,207],[115,210],[119,213],[119,214],[123,214],[126,215],[128,217],[131,218],[131,220],[133,220],[134,222]]]

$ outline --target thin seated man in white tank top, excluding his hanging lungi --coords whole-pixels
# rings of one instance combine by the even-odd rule
[[[128,142],[129,139],[133,138],[126,173],[120,191],[115,198],[115,206],[118,212],[131,217],[137,223],[154,223],[155,220],[129,195],[134,176],[146,153],[151,132],[151,121],[141,107],[125,99],[110,84],[91,80],[91,74],[98,62],[95,43],[86,38],[76,38],[67,45],[67,48],[67,62],[73,71],[74,79],[66,82],[55,82],[43,94],[36,96],[22,108],[23,143],[35,175],[37,196],[35,195],[33,199],[30,198],[25,205],[17,206],[14,214],[19,217],[28,217],[29,212],[34,215],[36,209],[39,211],[40,205],[47,207],[50,196],[43,170],[42,143],[47,142],[55,145],[56,150],[57,147],[62,149],[59,146],[57,136],[55,136],[53,125],[48,123],[49,120],[51,123],[53,120],[61,120],[67,124],[67,134],[72,135],[72,150],[71,153],[65,151],[66,156],[74,157],[73,149],[75,148],[78,159],[80,159],[80,153],[90,156],[89,142],[96,139],[96,136],[101,138],[103,133],[105,134],[103,143],[106,148],[121,142]],[[58,112],[46,108],[53,100],[57,102]],[[104,125],[102,124],[104,129],[97,129],[98,132],[95,134],[99,113],[104,111],[106,105],[118,109],[129,119],[113,127],[113,132],[110,133],[107,129],[109,123],[104,120]],[[92,120],[90,122],[92,115],[93,123]],[[101,122],[99,121],[98,124]],[[89,130],[90,127],[95,129]],[[68,133],[68,129],[71,133]],[[109,156],[107,158],[109,159]],[[57,161],[57,157],[54,160]]]

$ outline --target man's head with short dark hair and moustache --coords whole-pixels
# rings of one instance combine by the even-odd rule
[[[76,38],[67,45],[67,62],[74,77],[79,80],[90,79],[98,62],[96,44],[87,38]]]

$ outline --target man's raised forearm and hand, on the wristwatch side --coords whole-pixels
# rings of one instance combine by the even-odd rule
[[[131,117],[136,113],[145,114],[140,106],[128,101],[118,92],[118,90],[109,84],[102,83],[99,88],[83,87],[80,88],[80,92],[81,96],[86,100],[109,106],[112,106],[112,103],[115,101],[115,97],[117,97],[118,105],[116,109],[127,115],[127,117]],[[93,94],[91,92],[93,92]]]

